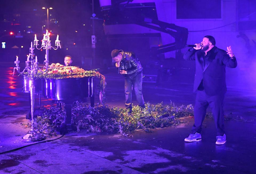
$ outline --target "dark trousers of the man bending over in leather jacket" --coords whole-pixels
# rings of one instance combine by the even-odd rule
[[[125,78],[125,107],[131,108],[131,93],[134,87],[134,92],[139,106],[145,108],[142,95],[142,72],[135,75],[132,79]]]

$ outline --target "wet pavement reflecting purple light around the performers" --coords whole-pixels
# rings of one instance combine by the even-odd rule
[[[0,152],[32,144],[21,142],[28,131],[21,124],[29,122],[25,119],[29,94],[21,92],[21,77],[17,73],[12,77],[13,65],[0,66]],[[107,104],[124,107],[123,78],[111,71],[102,74],[107,80]],[[194,104],[192,87],[185,79],[158,87],[143,83],[143,96],[151,104],[168,104],[170,100],[176,105]],[[203,123],[201,142],[184,142],[193,125],[193,118],[185,117],[185,124],[154,129],[152,133],[135,131],[133,137],[85,130],[70,132],[51,142],[0,154],[0,173],[256,173],[255,96],[256,89],[228,87],[225,113],[232,112],[241,121],[225,122],[225,145],[215,145],[216,130],[211,118]],[[41,101],[43,105],[53,104],[50,99]],[[137,104],[135,99],[133,103]]]

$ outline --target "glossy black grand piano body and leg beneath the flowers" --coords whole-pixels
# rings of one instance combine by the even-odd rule
[[[25,78],[24,78],[25,79]],[[60,133],[72,130],[71,108],[74,101],[90,97],[91,107],[94,107],[94,76],[92,77],[56,77],[38,78],[35,80],[35,91],[42,93],[46,98],[65,103],[66,116],[61,125]],[[23,91],[29,91],[29,79],[24,80]]]

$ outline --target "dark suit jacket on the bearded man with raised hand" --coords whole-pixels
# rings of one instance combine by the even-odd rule
[[[205,93],[209,96],[225,94],[226,87],[226,66],[237,67],[237,60],[230,58],[225,50],[214,46],[207,52],[207,58],[203,60],[205,53],[201,50],[190,48],[183,56],[185,60],[195,60],[194,92],[203,80]]]

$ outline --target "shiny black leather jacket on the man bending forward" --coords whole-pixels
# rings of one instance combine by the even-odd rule
[[[127,71],[124,74],[126,78],[133,78],[135,75],[142,72],[141,62],[133,52],[123,52],[123,58],[120,62],[120,70]]]

